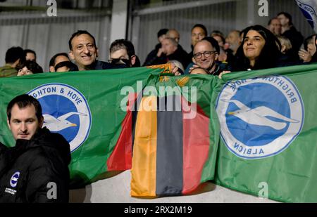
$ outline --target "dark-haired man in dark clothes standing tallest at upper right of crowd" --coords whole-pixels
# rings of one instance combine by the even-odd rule
[[[297,58],[297,53],[304,41],[304,37],[294,27],[292,23],[292,16],[289,13],[278,13],[278,20],[280,20],[280,25],[282,26],[282,36],[287,37],[287,39],[290,39],[291,41],[292,49],[290,53],[294,58]]]

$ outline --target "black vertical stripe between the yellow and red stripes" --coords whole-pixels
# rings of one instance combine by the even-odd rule
[[[183,155],[180,96],[158,98],[158,107],[156,195],[181,195]]]

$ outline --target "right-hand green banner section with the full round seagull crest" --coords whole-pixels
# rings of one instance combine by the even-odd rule
[[[216,101],[216,183],[282,202],[317,202],[317,65],[225,74]]]

